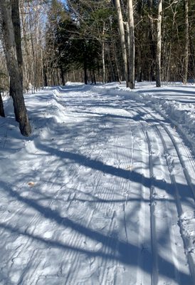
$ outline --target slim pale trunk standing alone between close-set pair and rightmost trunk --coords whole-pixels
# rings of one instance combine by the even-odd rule
[[[162,0],[158,3],[158,19],[157,19],[157,60],[156,60],[156,86],[161,86],[161,49],[162,49]]]

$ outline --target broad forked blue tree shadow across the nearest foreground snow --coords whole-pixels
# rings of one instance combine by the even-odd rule
[[[1,185],[4,182],[1,182]],[[137,266],[137,257],[140,253],[140,249],[134,244],[130,244],[129,242],[124,242],[117,238],[117,233],[112,232],[111,234],[103,234],[98,232],[97,230],[91,229],[90,227],[85,227],[85,225],[75,222],[68,217],[61,217],[60,213],[57,210],[53,210],[50,207],[43,207],[41,204],[38,204],[33,199],[29,199],[28,197],[22,197],[18,192],[11,189],[7,185],[4,185],[4,190],[9,193],[11,197],[17,199],[17,201],[26,204],[28,207],[36,209],[36,211],[41,214],[45,219],[55,221],[60,227],[73,229],[75,232],[82,234],[84,237],[88,237],[93,239],[95,242],[100,242],[103,247],[109,248],[109,252],[94,249],[88,249],[87,247],[77,247],[70,244],[66,244],[64,242],[59,242],[53,239],[44,239],[41,236],[28,233],[28,229],[21,230],[16,227],[11,226],[9,223],[6,224],[4,222],[0,223],[1,229],[5,229],[10,233],[14,233],[17,235],[22,235],[24,237],[28,237],[32,239],[34,242],[41,242],[46,244],[48,247],[59,248],[64,251],[71,252],[79,252],[80,254],[85,254],[87,257],[101,257],[105,260],[115,260],[119,261],[121,264],[126,264],[130,266]],[[120,229],[119,229],[120,230]],[[163,257],[158,257],[159,263],[162,263],[164,266],[162,267],[162,271],[160,272],[164,276],[172,276],[174,272],[174,265]],[[152,272],[152,252],[147,250],[146,248],[142,249],[142,263],[139,264],[141,269],[148,274]],[[182,284],[189,284],[189,276],[184,272],[179,271],[179,276],[182,280]]]

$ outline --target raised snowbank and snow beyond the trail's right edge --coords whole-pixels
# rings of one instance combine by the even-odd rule
[[[173,128],[177,128],[189,143],[195,154],[195,86],[184,86],[181,83],[171,84],[157,88],[154,83],[137,83],[135,90],[125,87],[125,83],[109,83],[105,86],[95,86],[102,94],[120,95],[144,102],[157,110],[168,120],[171,120]]]

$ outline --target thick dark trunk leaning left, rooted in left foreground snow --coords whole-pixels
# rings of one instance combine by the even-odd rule
[[[31,134],[31,125],[28,121],[26,106],[23,99],[23,82],[21,80],[21,67],[19,66],[19,58],[16,45],[19,44],[19,38],[15,39],[14,23],[12,20],[12,11],[14,7],[19,9],[19,0],[14,1],[13,9],[11,9],[11,0],[0,1],[1,20],[4,33],[4,44],[6,51],[6,63],[11,81],[11,95],[14,101],[14,111],[16,120],[19,121],[19,128],[22,135]],[[16,6],[15,6],[16,5]],[[19,23],[19,21],[17,21]],[[20,27],[18,27],[20,28]]]

